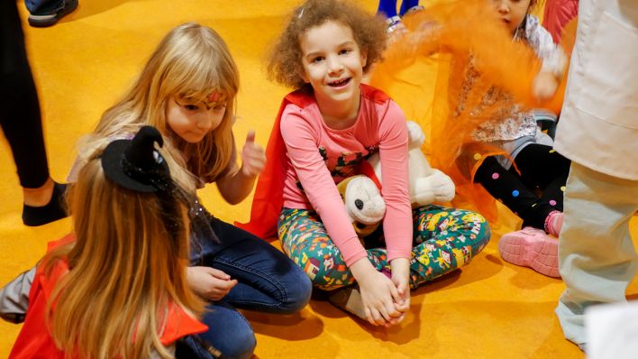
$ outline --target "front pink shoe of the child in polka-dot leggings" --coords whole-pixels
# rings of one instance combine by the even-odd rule
[[[561,278],[558,267],[558,241],[545,231],[530,226],[501,237],[498,252],[506,262],[525,267],[549,277]]]

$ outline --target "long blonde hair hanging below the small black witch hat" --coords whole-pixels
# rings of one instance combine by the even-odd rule
[[[56,345],[89,359],[171,357],[160,343],[169,305],[204,308],[187,284],[187,207],[175,200],[178,230],[167,229],[160,198],[106,179],[99,159],[80,170],[68,207],[76,241],[43,260],[45,272],[69,267],[48,303]]]

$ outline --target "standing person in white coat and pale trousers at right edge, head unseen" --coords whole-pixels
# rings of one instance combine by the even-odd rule
[[[571,160],[559,237],[567,289],[556,314],[582,349],[585,308],[626,301],[638,270],[629,233],[638,210],[638,1],[580,1],[554,148]]]

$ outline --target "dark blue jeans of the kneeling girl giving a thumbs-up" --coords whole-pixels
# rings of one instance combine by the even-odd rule
[[[200,337],[224,357],[250,357],[257,342],[251,325],[235,308],[295,313],[310,300],[312,284],[284,253],[259,237],[217,218],[211,226],[220,243],[194,239],[191,262],[223,271],[238,284],[208,306],[202,321],[209,330]]]

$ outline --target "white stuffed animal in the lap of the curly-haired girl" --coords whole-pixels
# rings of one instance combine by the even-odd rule
[[[421,207],[433,202],[449,202],[454,198],[454,182],[441,170],[430,167],[421,152],[425,134],[421,126],[407,122],[408,167],[410,179],[410,202]],[[381,180],[381,162],[378,153],[368,158],[377,179]],[[352,226],[360,237],[369,235],[378,227],[386,213],[386,203],[372,179],[359,175],[344,179],[338,186]]]

